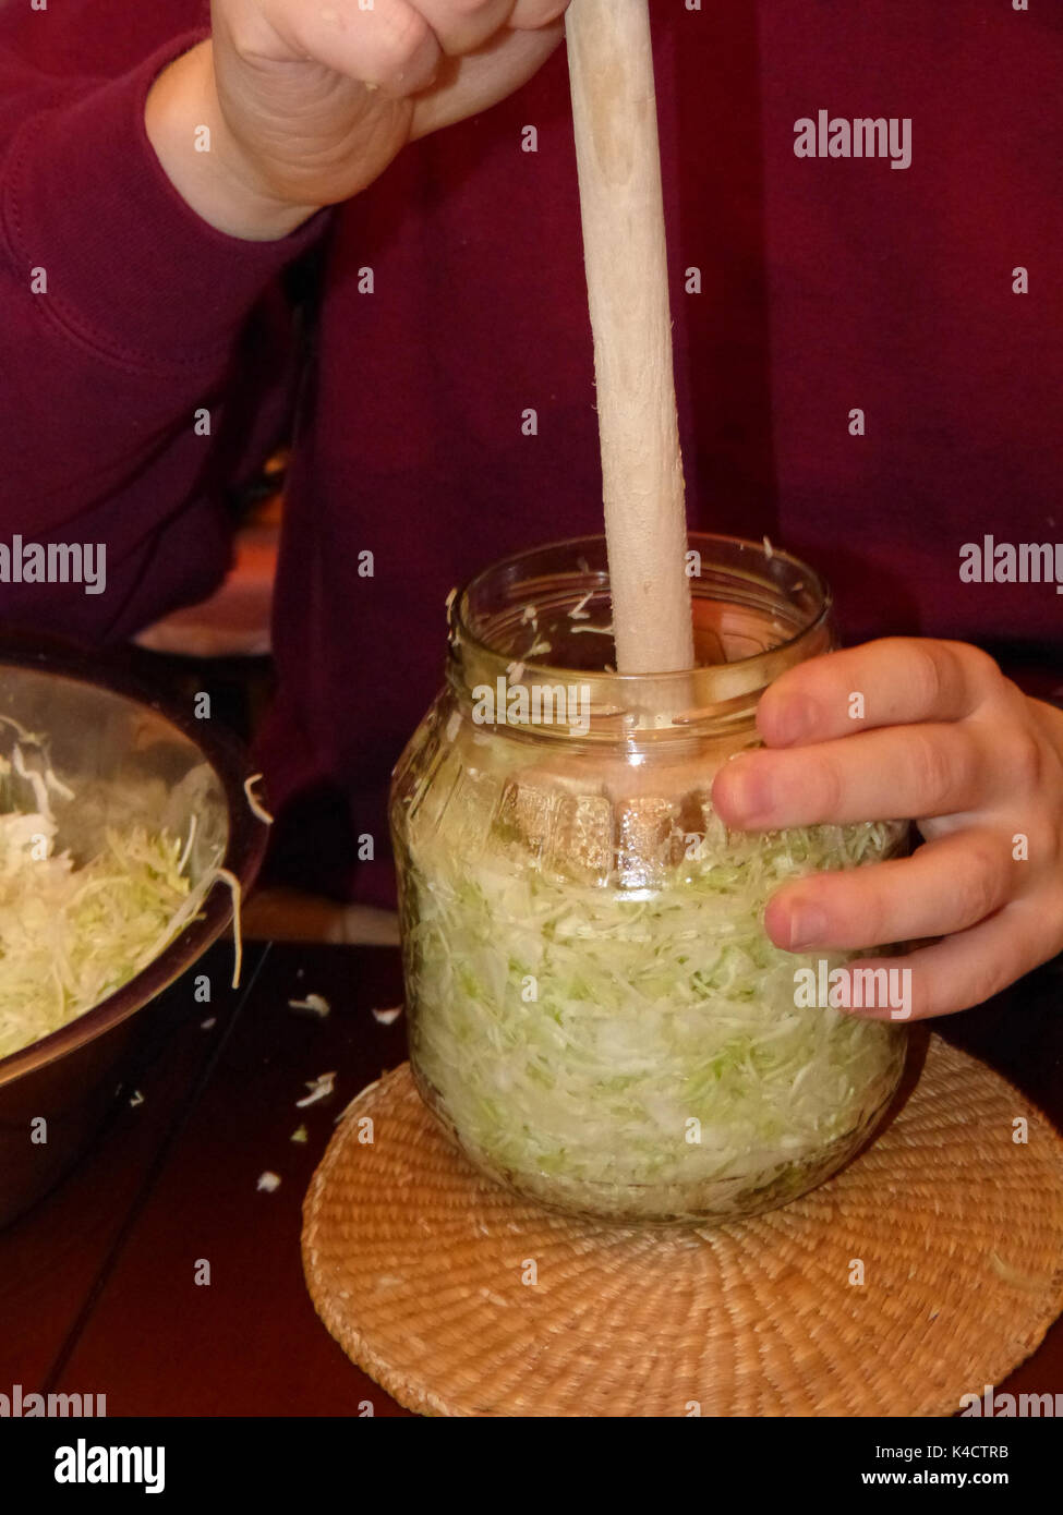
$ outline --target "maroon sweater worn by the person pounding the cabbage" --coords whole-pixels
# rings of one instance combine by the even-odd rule
[[[0,9],[0,542],[108,550],[106,592],[0,583],[0,623],[115,641],[215,586],[224,491],[291,388],[281,274],[323,255],[262,751],[274,803],[335,797],[321,879],[346,888],[344,835],[382,841],[388,770],[440,682],[447,589],[599,529],[566,59],[259,245],[199,221],[143,129],[206,9]],[[1058,651],[1054,583],[960,577],[986,533],[1063,539],[1058,8],[651,11],[691,526],[813,561],[848,641]],[[908,120],[910,165],[798,156],[820,111]]]

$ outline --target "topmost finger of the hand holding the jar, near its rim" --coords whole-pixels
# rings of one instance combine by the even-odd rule
[[[978,647],[887,636],[781,674],[764,691],[757,727],[769,747],[792,747],[880,726],[960,721],[1001,683]]]

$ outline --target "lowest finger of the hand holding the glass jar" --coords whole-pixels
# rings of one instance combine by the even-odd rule
[[[1045,912],[1033,901],[1013,901],[1002,911],[972,926],[970,930],[946,936],[933,947],[920,947],[907,957],[867,957],[851,962],[843,970],[852,985],[855,970],[907,970],[907,992],[895,995],[907,1006],[880,1003],[854,1009],[854,1015],[876,1021],[930,1020],[954,1015],[999,994],[1024,973],[1048,962],[1060,950],[1063,933],[1045,930]],[[864,985],[867,980],[863,980]],[[849,991],[852,1000],[852,989]],[[866,994],[864,994],[866,998]],[[845,1009],[845,1006],[839,1006]]]

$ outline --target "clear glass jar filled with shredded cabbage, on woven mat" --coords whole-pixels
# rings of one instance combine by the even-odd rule
[[[449,604],[446,688],[394,771],[409,1059],[485,1174],[579,1215],[705,1224],[834,1173],[887,1106],[902,1027],[811,1007],[855,953],[772,945],[785,880],[901,823],[728,832],[711,785],[755,708],[834,642],[817,576],[693,533],[699,667],[619,676],[604,538],[522,553]],[[798,1001],[802,1003],[798,1003]]]

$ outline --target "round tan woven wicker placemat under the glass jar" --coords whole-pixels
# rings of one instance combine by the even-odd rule
[[[1063,1141],[933,1036],[889,1129],[813,1194],[622,1230],[481,1179],[403,1064],[337,1127],[303,1268],[340,1345],[423,1413],[949,1415],[1063,1307]]]

